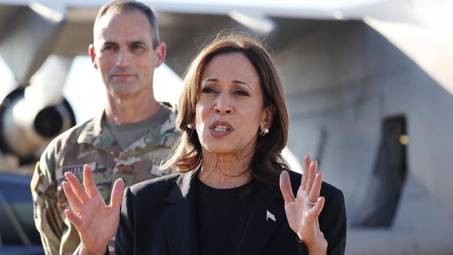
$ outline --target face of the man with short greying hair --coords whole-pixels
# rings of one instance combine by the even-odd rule
[[[153,73],[163,63],[165,45],[153,49],[151,24],[137,10],[107,13],[94,28],[89,54],[107,92],[124,98],[151,89]]]

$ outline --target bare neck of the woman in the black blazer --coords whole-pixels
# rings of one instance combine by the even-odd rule
[[[249,168],[252,157],[237,155],[213,155],[203,153],[203,167],[199,173],[200,180],[216,189],[239,187],[252,180]]]

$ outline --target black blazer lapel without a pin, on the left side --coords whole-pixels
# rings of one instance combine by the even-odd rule
[[[197,255],[196,179],[192,178],[196,172],[182,173],[167,197],[175,205],[165,218],[165,232],[174,255]]]

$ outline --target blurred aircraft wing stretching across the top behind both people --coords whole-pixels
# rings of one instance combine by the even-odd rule
[[[20,86],[50,54],[85,55],[100,6],[107,1],[0,0],[0,54]],[[410,1],[371,1],[350,6],[348,1],[320,7],[320,1],[144,1],[157,10],[161,38],[168,46],[168,65],[182,75],[199,47],[222,29],[245,28],[268,38],[275,49],[325,22],[362,20],[364,17],[410,19]],[[341,4],[342,3],[342,4]],[[321,1],[322,6],[322,1]],[[392,10],[392,11],[390,11]],[[401,10],[404,15],[401,15]]]

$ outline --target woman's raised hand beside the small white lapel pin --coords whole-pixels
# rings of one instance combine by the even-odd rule
[[[291,190],[289,173],[283,171],[280,175],[280,190],[284,197],[286,218],[289,226],[305,243],[309,254],[326,254],[327,241],[319,229],[318,216],[323,210],[324,197],[319,197],[323,173],[316,173],[318,163],[312,162],[307,154],[304,160],[304,173],[297,196]]]

